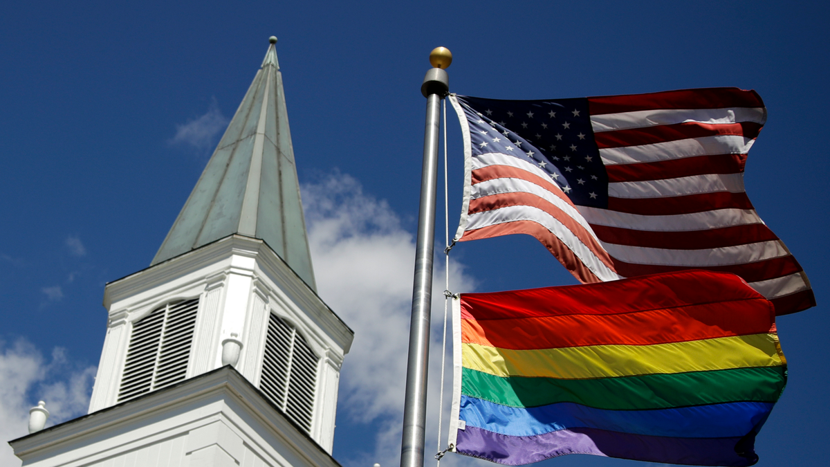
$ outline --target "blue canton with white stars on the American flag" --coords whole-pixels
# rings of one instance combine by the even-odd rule
[[[532,162],[574,204],[608,207],[608,175],[593,140],[587,99],[457,98],[470,124],[473,157],[496,152]]]

